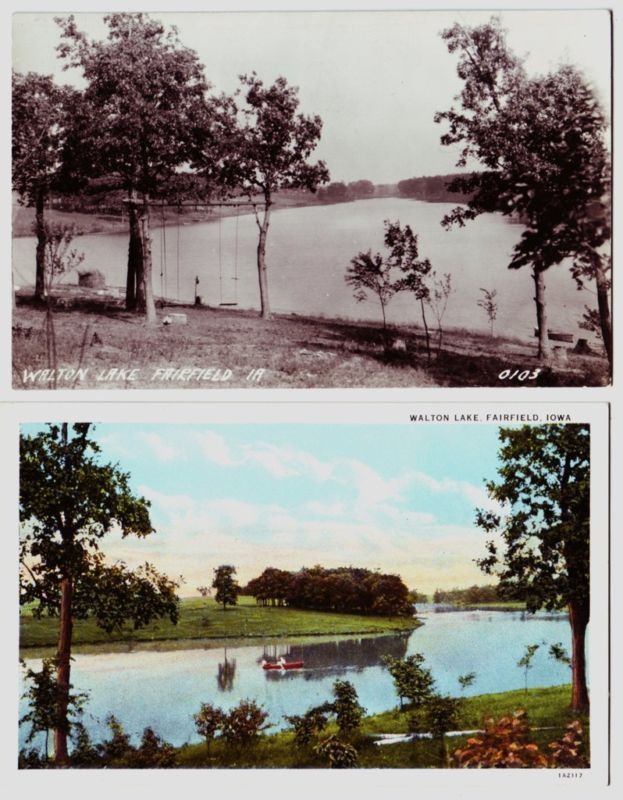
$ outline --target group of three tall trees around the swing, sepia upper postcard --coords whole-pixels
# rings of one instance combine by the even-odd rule
[[[105,41],[89,40],[73,15],[56,21],[59,57],[82,72],[84,90],[33,73],[13,76],[13,188],[36,210],[37,297],[44,294],[51,189],[122,190],[129,220],[126,308],[154,322],[150,204],[180,202],[189,191],[204,202],[246,196],[253,203],[261,313],[269,317],[266,237],[274,194],[315,191],[328,181],[325,164],[309,161],[320,117],[297,112],[298,89],[283,77],[265,87],[253,72],[240,76],[234,97],[210,94],[196,52],[148,14],[106,15]],[[190,169],[193,179],[184,180]]]

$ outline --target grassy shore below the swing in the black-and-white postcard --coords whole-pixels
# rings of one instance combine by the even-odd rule
[[[21,289],[17,300],[16,389],[512,388],[608,380],[604,358],[573,353],[566,363],[542,368],[536,379],[526,380],[538,367],[534,342],[478,332],[445,331],[443,349],[429,360],[424,333],[416,327],[390,330],[389,339],[399,339],[400,347],[387,350],[381,328],[373,323],[296,314],[262,320],[254,311],[169,305],[158,310],[158,324],[148,326],[123,310],[119,293],[96,296],[70,287],[59,288],[56,298],[52,377],[36,372],[51,366],[46,312],[32,303],[29,288]],[[163,325],[174,311],[183,312],[187,324]]]

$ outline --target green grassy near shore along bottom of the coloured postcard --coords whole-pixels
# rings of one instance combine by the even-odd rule
[[[532,728],[531,741],[539,745],[542,752],[548,753],[547,744],[560,738],[565,725],[577,719],[569,709],[570,686],[555,686],[530,689],[528,692],[511,691],[465,698],[459,719],[459,730],[475,730],[482,727],[485,717],[499,719],[512,714],[516,709],[527,711],[528,722]],[[374,744],[373,737],[381,733],[407,733],[411,724],[412,712],[405,709],[387,711],[365,717],[361,734],[355,745],[359,752],[358,766],[363,768],[439,768],[444,763],[439,742],[422,739],[416,742],[398,743],[384,746]],[[582,719],[587,730],[588,721]],[[541,730],[538,730],[541,729]],[[337,733],[330,726],[323,737]],[[464,744],[467,736],[448,737],[448,750],[452,753]],[[205,744],[186,745],[178,751],[180,767],[269,767],[269,768],[310,768],[326,764],[313,752],[312,747],[299,748],[289,731],[264,735],[252,747],[236,750],[218,740],[210,749]]]

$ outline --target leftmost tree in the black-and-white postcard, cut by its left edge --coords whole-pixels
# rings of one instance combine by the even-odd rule
[[[57,86],[49,75],[13,73],[12,78],[12,186],[20,203],[35,209],[35,298],[42,301],[45,287],[45,204],[60,189],[60,168],[78,92]]]

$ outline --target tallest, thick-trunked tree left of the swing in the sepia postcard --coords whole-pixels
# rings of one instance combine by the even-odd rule
[[[197,54],[172,28],[143,13],[109,14],[107,41],[89,41],[73,16],[61,19],[59,56],[87,82],[76,152],[81,171],[117,179],[130,224],[126,307],[156,319],[149,201],[187,164],[205,123],[209,88]]]

